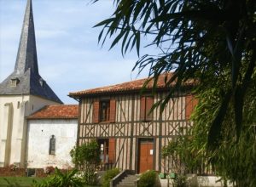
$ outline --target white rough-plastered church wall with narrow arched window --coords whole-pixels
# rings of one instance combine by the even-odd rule
[[[73,167],[70,150],[76,144],[78,120],[42,119],[28,121],[28,168]],[[55,135],[55,155],[49,155],[49,139]]]

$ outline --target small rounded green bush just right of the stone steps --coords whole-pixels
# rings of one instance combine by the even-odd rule
[[[156,186],[157,173],[153,170],[149,170],[140,176],[138,187],[153,187]]]

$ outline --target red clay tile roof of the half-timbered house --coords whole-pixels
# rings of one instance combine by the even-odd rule
[[[158,82],[157,82],[157,88],[166,88],[166,79],[167,81],[170,80],[172,77],[172,73],[168,74],[162,74],[160,75]],[[87,89],[79,92],[73,92],[69,93],[68,95],[71,97],[81,96],[81,95],[90,95],[90,94],[108,94],[108,93],[119,93],[119,92],[125,92],[125,91],[131,91],[131,90],[140,90],[143,88],[144,82],[146,82],[148,78],[139,79],[136,81],[131,82],[124,82],[120,84],[115,84],[112,86],[102,87],[102,88],[93,88],[93,89]],[[147,88],[153,87],[153,80],[151,80],[148,83]],[[188,82],[188,85],[191,84],[192,81]]]

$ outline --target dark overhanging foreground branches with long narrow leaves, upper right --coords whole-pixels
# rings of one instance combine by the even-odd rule
[[[94,0],[97,2],[98,0]],[[114,0],[113,15],[96,26],[102,26],[99,42],[113,37],[110,48],[121,42],[121,52],[137,48],[140,53],[142,36],[147,46],[160,48],[160,54],[146,54],[134,68],[149,66],[148,76],[157,82],[160,74],[166,86],[175,83],[161,110],[172,98],[173,90],[194,79],[203,88],[211,88],[212,79],[224,78],[219,87],[218,110],[208,132],[208,146],[217,147],[224,117],[230,107],[232,123],[239,139],[247,89],[251,87],[256,61],[256,2],[254,0]],[[210,82],[209,82],[210,81]],[[155,85],[155,84],[154,84]]]

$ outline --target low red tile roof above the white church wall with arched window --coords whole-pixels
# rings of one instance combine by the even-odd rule
[[[79,105],[46,105],[27,119],[75,119],[79,117]]]

